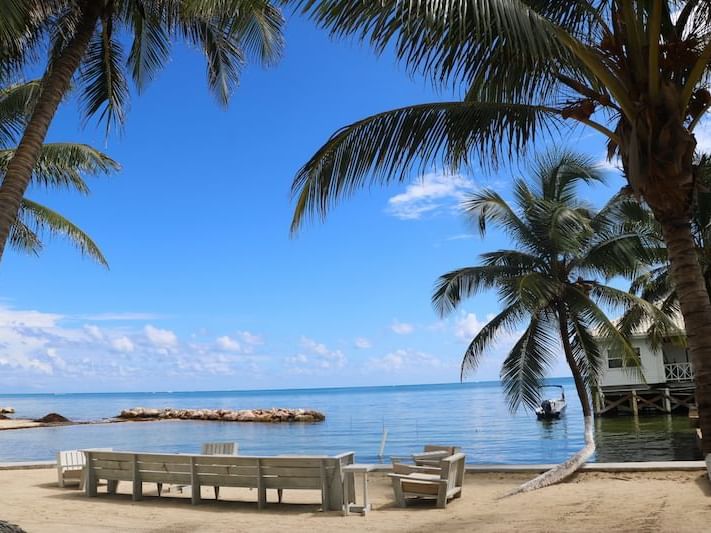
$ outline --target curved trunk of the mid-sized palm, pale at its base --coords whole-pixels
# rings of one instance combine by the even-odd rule
[[[514,494],[519,494],[521,492],[530,492],[549,485],[554,485],[555,483],[560,483],[577,472],[590,458],[590,456],[595,453],[595,438],[593,436],[593,416],[592,408],[590,406],[590,396],[588,395],[588,389],[585,385],[585,381],[583,380],[583,376],[580,373],[578,363],[575,361],[575,357],[573,356],[573,349],[570,346],[570,332],[568,330],[568,314],[565,306],[562,304],[558,306],[558,321],[560,325],[560,341],[563,345],[565,360],[567,361],[570,371],[573,374],[575,389],[578,391],[580,405],[583,408],[583,420],[585,421],[585,446],[568,458],[567,461],[560,463],[547,472],[543,472],[541,475],[527,481],[506,496],[513,496]]]

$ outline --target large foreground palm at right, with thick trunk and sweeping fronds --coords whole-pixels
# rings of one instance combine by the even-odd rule
[[[298,172],[292,229],[368,183],[438,163],[525,154],[590,127],[661,224],[711,435],[711,301],[690,227],[694,130],[711,106],[711,3],[698,0],[301,0],[334,35],[392,49],[462,99],[407,106],[337,131]],[[711,452],[711,439],[704,441]]]

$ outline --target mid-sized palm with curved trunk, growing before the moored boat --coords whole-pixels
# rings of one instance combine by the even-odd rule
[[[599,281],[634,274],[643,241],[623,232],[611,205],[595,210],[579,200],[577,186],[602,181],[590,159],[573,153],[540,157],[528,181],[513,184],[513,204],[497,192],[473,193],[464,202],[482,236],[490,225],[504,230],[513,248],[487,252],[474,267],[441,276],[432,301],[441,315],[479,291],[496,289],[504,309],[474,337],[462,361],[462,377],[476,370],[502,333],[520,330],[503,361],[501,381],[512,410],[539,405],[539,388],[562,347],[585,420],[586,446],[570,460],[525,485],[532,490],[574,472],[595,451],[590,390],[599,381],[604,349],[639,365],[636,352],[606,315],[610,307],[654,306]]]

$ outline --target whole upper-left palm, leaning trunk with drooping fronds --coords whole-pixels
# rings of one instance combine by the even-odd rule
[[[120,125],[128,100],[126,72],[142,89],[169,59],[171,41],[198,47],[207,81],[222,104],[246,57],[263,64],[282,48],[280,11],[269,0],[11,0],[0,8],[0,61],[32,57],[50,43],[39,95],[0,186],[0,257],[31,181],[54,114],[78,73],[87,116]],[[120,34],[132,42],[125,54]],[[19,58],[18,58],[19,56]]]

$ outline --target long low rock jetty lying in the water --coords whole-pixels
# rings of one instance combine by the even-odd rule
[[[216,420],[221,422],[321,422],[326,415],[305,409],[124,409],[118,418],[124,420]]]

